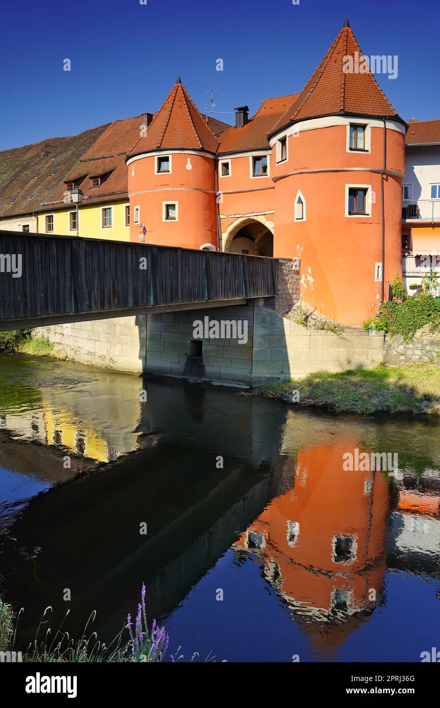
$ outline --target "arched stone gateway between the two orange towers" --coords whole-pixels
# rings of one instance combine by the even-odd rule
[[[274,223],[264,216],[241,217],[222,234],[223,250],[249,253],[250,256],[273,256]]]

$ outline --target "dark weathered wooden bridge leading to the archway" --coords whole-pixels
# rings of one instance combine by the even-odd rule
[[[277,261],[0,231],[0,330],[237,304],[277,293]]]

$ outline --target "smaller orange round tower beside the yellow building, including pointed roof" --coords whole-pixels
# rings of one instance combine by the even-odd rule
[[[139,132],[127,157],[130,240],[215,249],[219,141],[180,77]]]

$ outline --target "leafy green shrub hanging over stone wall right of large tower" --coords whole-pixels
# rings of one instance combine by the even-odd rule
[[[412,295],[403,302],[383,302],[374,324],[378,330],[410,341],[425,324],[432,330],[440,325],[440,302],[427,292]]]

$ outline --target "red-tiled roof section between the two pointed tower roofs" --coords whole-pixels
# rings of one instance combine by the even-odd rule
[[[231,127],[220,135],[219,154],[269,148],[268,133],[297,96],[299,93],[266,98],[246,125]]]

